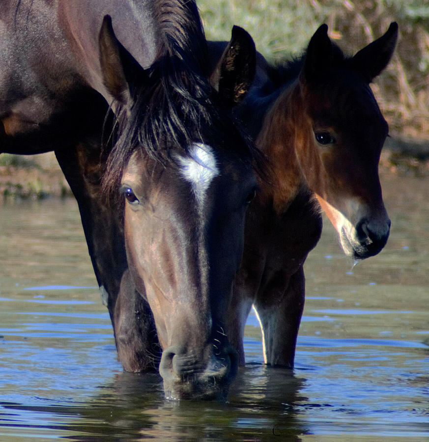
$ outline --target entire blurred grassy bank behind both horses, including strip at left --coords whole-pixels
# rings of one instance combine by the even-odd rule
[[[197,0],[208,39],[229,40],[247,29],[268,60],[299,55],[322,23],[346,53],[399,25],[396,53],[372,85],[390,126],[382,166],[429,174],[429,0]],[[0,200],[70,194],[51,154],[0,156]]]

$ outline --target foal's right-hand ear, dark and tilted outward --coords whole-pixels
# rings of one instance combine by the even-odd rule
[[[398,38],[398,24],[393,22],[380,38],[377,38],[352,58],[352,67],[363,74],[368,83],[389,64]]]

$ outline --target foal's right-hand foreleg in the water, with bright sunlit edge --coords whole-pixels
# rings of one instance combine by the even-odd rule
[[[290,277],[279,301],[273,303],[271,299],[264,299],[263,296],[255,301],[266,364],[293,368],[304,299],[305,277],[301,266]]]

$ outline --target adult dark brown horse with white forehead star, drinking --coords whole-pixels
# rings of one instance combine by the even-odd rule
[[[55,150],[124,367],[155,366],[159,338],[168,395],[225,395],[225,310],[256,186],[229,116],[253,76],[250,37],[234,28],[209,83],[192,1],[11,0],[0,21],[0,151]]]

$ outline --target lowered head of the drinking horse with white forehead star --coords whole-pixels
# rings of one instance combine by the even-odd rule
[[[184,52],[143,70],[109,20],[100,45],[120,105],[105,184],[120,193],[130,274],[154,315],[165,392],[225,396],[237,369],[225,312],[256,187],[251,147],[228,113],[252,81],[253,41],[234,28],[213,85]]]

